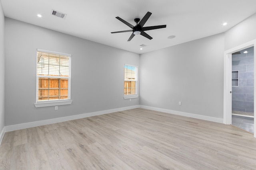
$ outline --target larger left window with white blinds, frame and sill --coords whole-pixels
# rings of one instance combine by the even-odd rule
[[[37,50],[36,107],[71,104],[71,55]]]

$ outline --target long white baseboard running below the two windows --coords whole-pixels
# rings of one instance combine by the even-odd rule
[[[19,129],[26,129],[26,128],[42,126],[42,125],[49,125],[49,124],[52,124],[52,123],[59,123],[59,122],[63,122],[63,121],[81,119],[81,118],[84,118],[84,117],[103,115],[103,114],[113,113],[113,112],[117,112],[117,111],[135,109],[135,108],[139,108],[139,107],[140,107],[139,105],[135,105],[135,106],[129,106],[129,107],[121,107],[121,108],[117,108],[117,109],[96,111],[96,112],[92,112],[92,113],[82,113],[82,114],[79,114],[79,115],[72,115],[72,116],[67,116],[67,117],[58,117],[58,118],[55,118],[55,119],[47,119],[47,120],[42,120],[42,121],[21,123],[21,124],[17,124],[17,125],[9,125],[9,126],[4,127],[5,130],[3,129],[3,132],[15,131],[15,130],[19,130]],[[1,133],[1,135],[2,135],[2,133]]]

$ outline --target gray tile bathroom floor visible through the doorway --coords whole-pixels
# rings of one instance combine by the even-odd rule
[[[254,118],[232,115],[232,125],[254,133]]]

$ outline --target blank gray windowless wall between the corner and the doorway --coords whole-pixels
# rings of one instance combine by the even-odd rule
[[[142,54],[140,105],[223,118],[223,53],[224,33]]]

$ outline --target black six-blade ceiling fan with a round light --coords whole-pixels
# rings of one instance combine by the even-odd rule
[[[146,37],[146,38],[148,38],[148,39],[152,39],[152,37],[150,37],[150,35],[148,35],[144,31],[148,31],[148,30],[152,30],[152,29],[159,29],[159,28],[166,28],[166,25],[157,25],[157,26],[143,27],[144,24],[146,23],[146,21],[148,20],[148,18],[151,16],[151,14],[152,14],[151,12],[147,12],[147,14],[142,18],[142,20],[140,20],[140,18],[135,18],[134,19],[134,21],[136,22],[135,26],[133,26],[132,24],[128,23],[127,21],[124,21],[120,17],[116,17],[116,19],[120,20],[121,22],[123,22],[124,24],[128,25],[128,27],[130,27],[132,29],[126,30],[126,31],[116,31],[116,32],[111,32],[111,33],[132,32],[132,35],[130,36],[128,41],[131,41],[131,39],[135,35],[139,35],[139,34],[144,36],[144,37]]]

